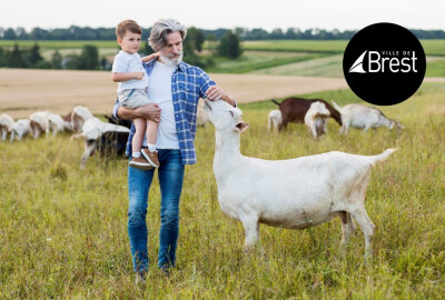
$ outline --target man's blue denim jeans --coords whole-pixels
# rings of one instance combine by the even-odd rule
[[[182,190],[185,166],[179,150],[159,149],[158,169],[161,192],[158,267],[175,266],[179,236],[179,198]],[[128,236],[135,272],[148,270],[147,206],[155,169],[150,171],[128,167]]]

